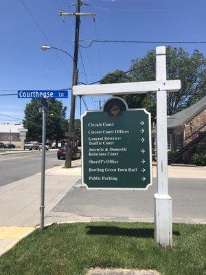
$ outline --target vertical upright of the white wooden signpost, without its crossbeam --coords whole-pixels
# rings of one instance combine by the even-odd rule
[[[156,48],[156,80],[166,81],[165,47]],[[155,197],[155,241],[172,248],[172,199],[168,195],[167,91],[157,91],[157,193]]]

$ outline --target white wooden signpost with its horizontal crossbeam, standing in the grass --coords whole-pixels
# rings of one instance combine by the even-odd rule
[[[172,199],[168,195],[167,91],[179,91],[181,80],[167,80],[166,49],[156,48],[156,81],[73,86],[76,96],[144,94],[157,92],[157,193],[155,196],[155,241],[172,248]]]

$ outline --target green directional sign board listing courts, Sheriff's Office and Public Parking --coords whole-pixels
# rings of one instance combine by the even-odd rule
[[[152,184],[150,113],[117,105],[82,116],[82,183],[88,188],[148,188]]]

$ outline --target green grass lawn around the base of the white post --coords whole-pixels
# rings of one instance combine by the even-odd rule
[[[206,225],[174,224],[173,250],[159,250],[152,223],[65,223],[36,230],[0,258],[1,275],[86,274],[91,267],[206,274]]]

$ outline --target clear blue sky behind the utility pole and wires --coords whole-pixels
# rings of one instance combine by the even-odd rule
[[[54,47],[73,55],[74,18],[58,16],[59,9],[74,11],[76,0],[23,0],[32,16]],[[201,0],[88,0],[82,12],[95,12],[81,20],[80,39],[137,41],[206,41],[206,1]],[[21,0],[1,0],[0,94],[15,94],[18,89],[65,89],[71,87],[72,63],[69,56],[48,50],[49,42],[34,23]],[[96,30],[96,31],[95,31]],[[82,45],[89,43],[82,42]],[[79,56],[79,81],[92,83],[114,69],[128,70],[133,58],[140,58],[163,43],[98,43],[81,48],[87,74]],[[205,54],[205,44],[174,44],[187,52],[197,49]],[[58,54],[58,56],[57,56]],[[60,58],[60,59],[59,59]],[[96,100],[85,98],[89,109],[98,109]],[[0,113],[23,118],[28,100],[17,96],[0,96]],[[70,109],[70,98],[62,100]],[[76,100],[76,118],[80,117],[80,100]],[[95,106],[94,106],[95,105]],[[82,104],[82,112],[85,107]],[[68,115],[69,116],[69,115]],[[0,123],[18,122],[0,115]]]

